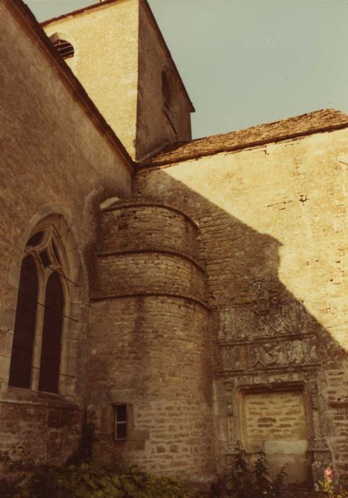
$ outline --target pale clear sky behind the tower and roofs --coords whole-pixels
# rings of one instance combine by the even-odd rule
[[[27,0],[38,18],[93,0]],[[334,107],[348,113],[348,0],[149,0],[205,137]]]

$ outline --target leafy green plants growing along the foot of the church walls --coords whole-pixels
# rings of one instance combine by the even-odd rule
[[[1,498],[188,498],[180,480],[156,477],[135,465],[126,472],[117,465],[112,469],[97,465],[92,455],[93,435],[93,426],[85,423],[77,452],[61,467],[13,462],[8,453],[0,452],[0,475],[10,476],[0,477]],[[284,467],[273,479],[268,467],[263,450],[253,466],[246,463],[243,450],[236,450],[224,489],[214,483],[210,496],[281,498],[286,489]],[[331,466],[319,484],[329,498],[348,498],[348,492],[337,489]]]

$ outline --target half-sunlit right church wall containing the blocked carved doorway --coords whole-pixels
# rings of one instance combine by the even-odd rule
[[[220,470],[240,444],[252,459],[260,430],[271,460],[288,455],[290,482],[317,481],[330,462],[347,479],[347,137],[138,171],[135,194],[200,228]]]

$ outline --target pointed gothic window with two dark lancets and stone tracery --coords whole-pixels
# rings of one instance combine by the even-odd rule
[[[58,393],[67,273],[65,250],[54,226],[34,231],[21,264],[10,386]]]

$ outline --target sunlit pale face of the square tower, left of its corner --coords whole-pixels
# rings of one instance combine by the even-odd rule
[[[75,48],[67,64],[132,157],[138,98],[138,0],[119,0],[43,27]]]

